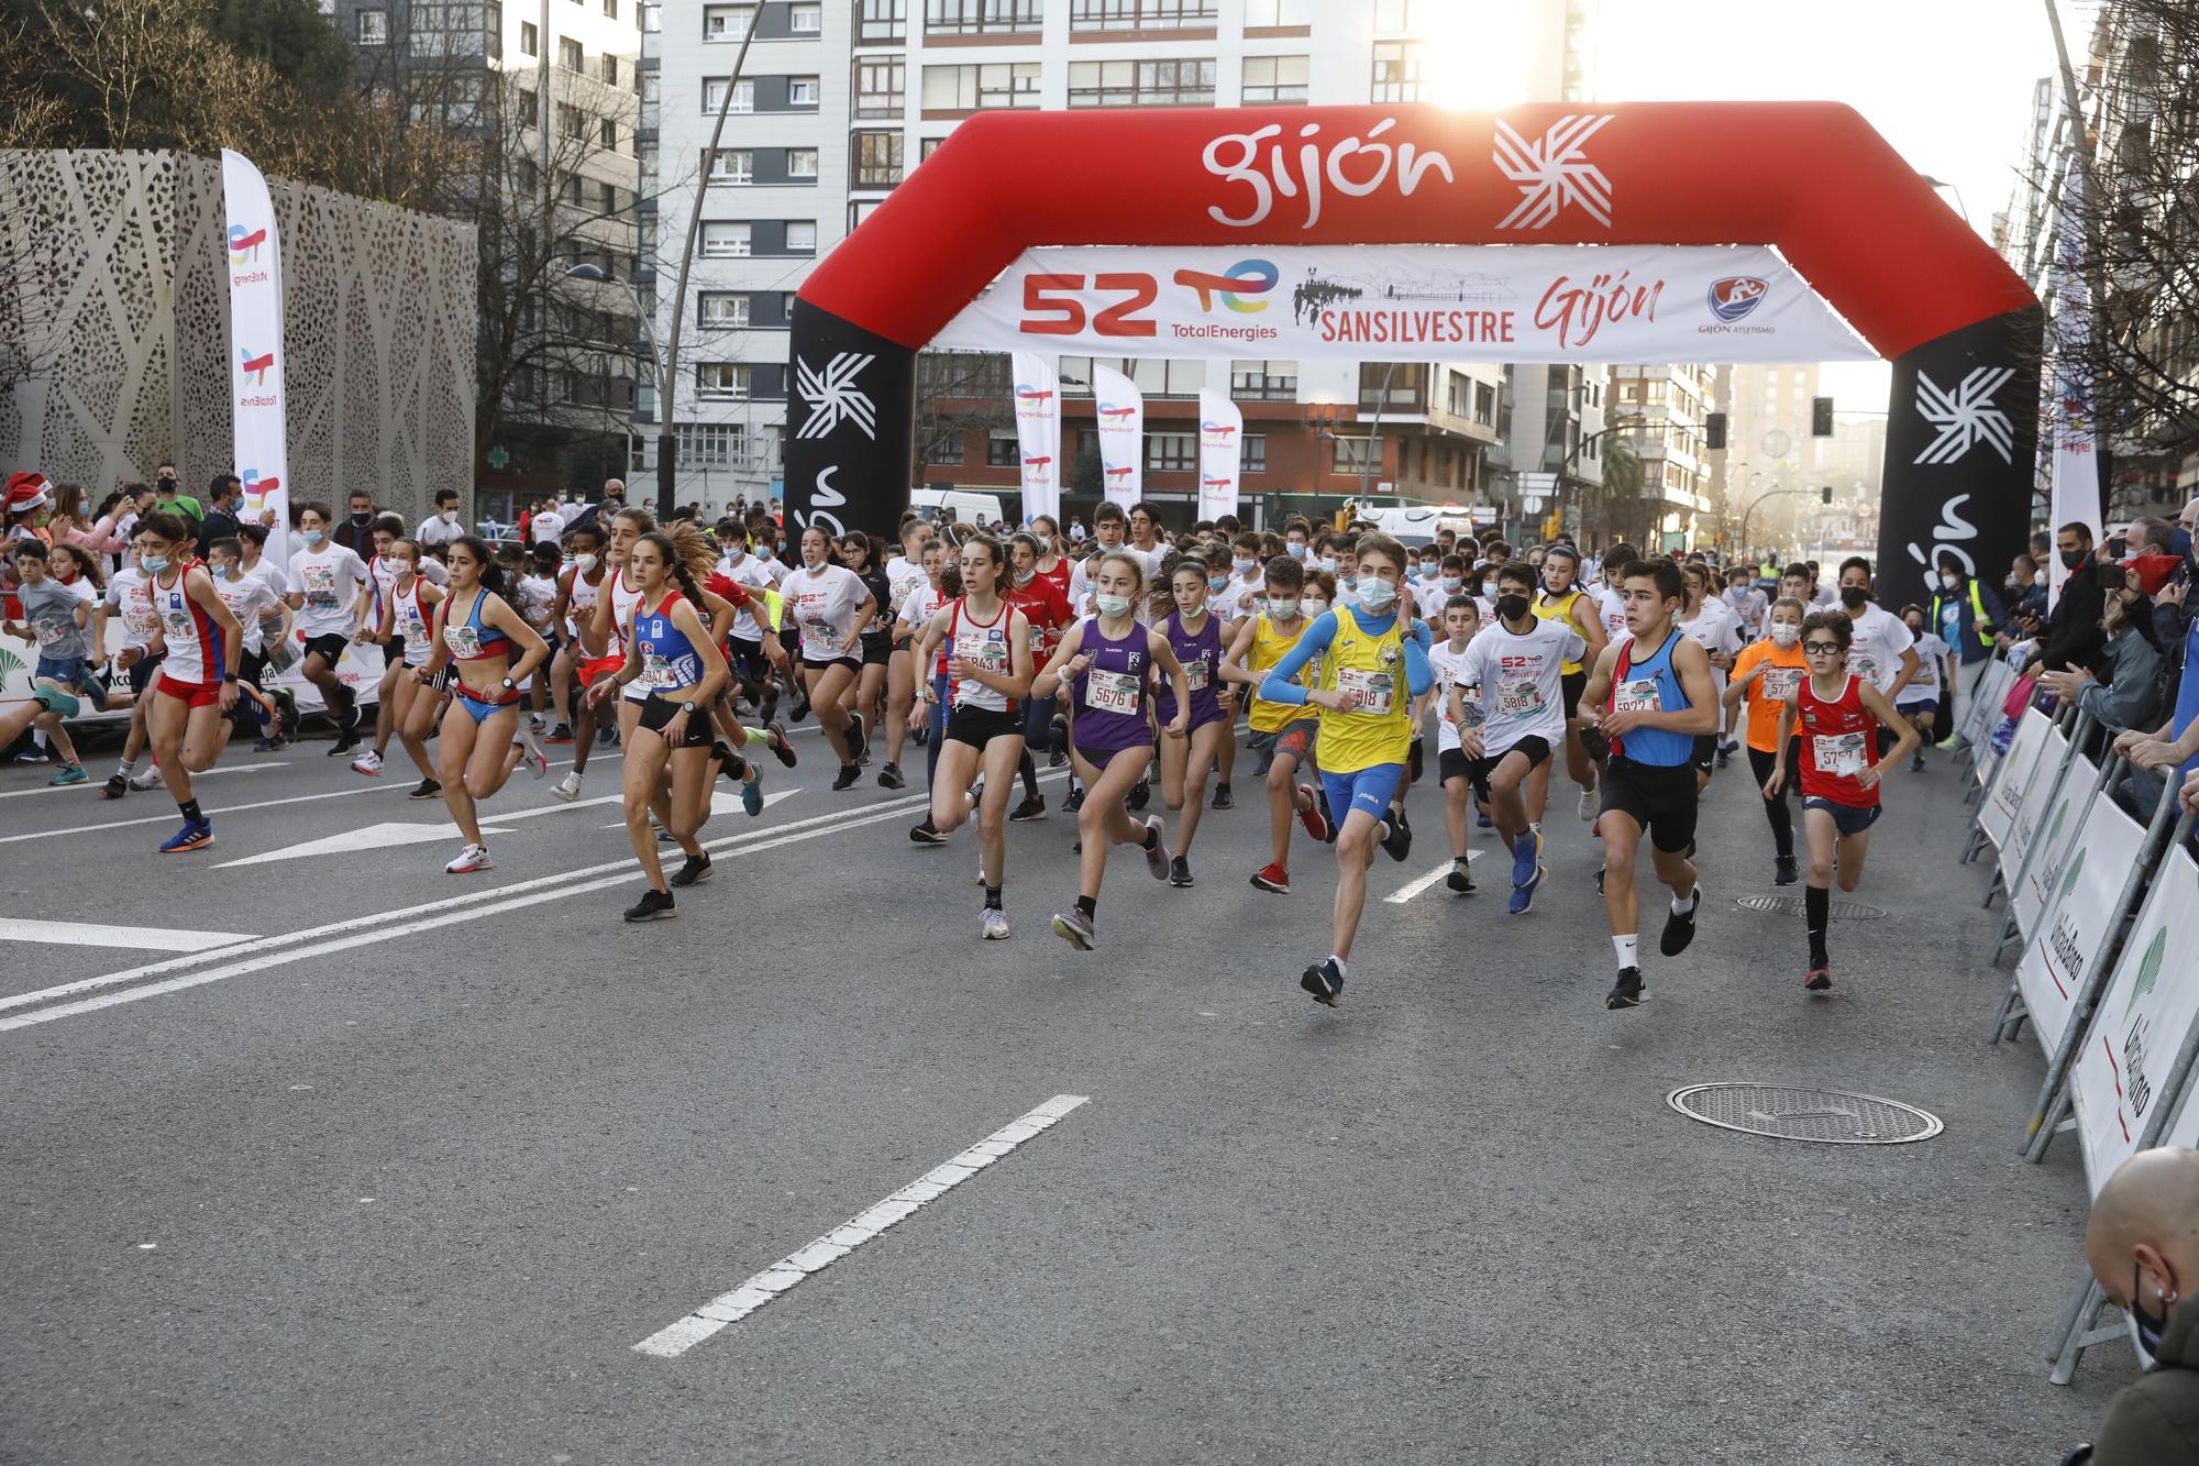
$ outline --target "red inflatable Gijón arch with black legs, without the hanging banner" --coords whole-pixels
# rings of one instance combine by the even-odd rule
[[[2038,302],[1860,114],[1812,101],[974,117],[796,299],[796,522],[893,528],[915,352],[1036,244],[1772,244],[1896,363],[1900,594],[1942,548],[1990,570],[2027,533]]]

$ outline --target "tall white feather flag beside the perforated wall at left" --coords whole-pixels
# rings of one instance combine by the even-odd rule
[[[244,154],[222,150],[222,269],[229,275],[229,396],[235,409],[235,467],[244,517],[275,511],[290,528],[290,445],[284,416],[281,242],[268,180]],[[290,535],[268,535],[268,553],[288,561]]]

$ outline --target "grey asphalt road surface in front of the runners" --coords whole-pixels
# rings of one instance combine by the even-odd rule
[[[1735,907],[1768,834],[1722,775],[1702,936],[1632,1013],[1570,814],[1528,916],[1500,861],[1383,900],[1443,865],[1423,788],[1330,1013],[1295,977],[1333,861],[1300,839],[1297,894],[1251,889],[1249,777],[1201,885],[1117,861],[1080,955],[1047,933],[1062,814],[1012,828],[987,944],[970,836],[910,845],[915,797],[833,795],[798,742],[640,929],[616,801],[521,779],[457,878],[402,766],[325,744],[207,779],[196,856],[154,854],[158,792],[0,768],[0,1459],[2003,1464],[2133,1374],[2118,1345],[2045,1380],[2085,1191],[2071,1145],[2016,1156],[2043,1065],[1986,1046],[1999,913],[1948,766],[1891,781],[1856,896],[1887,916],[1836,922],[1830,999],[1799,918]],[[295,850],[343,839],[385,843]],[[1799,1145],[1665,1103],[1722,1079],[1946,1131]],[[1089,1103],[636,1352],[1053,1096]]]

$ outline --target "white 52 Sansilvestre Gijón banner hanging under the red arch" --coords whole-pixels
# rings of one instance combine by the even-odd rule
[[[1878,357],[1761,244],[1040,247],[932,343],[1295,361]]]

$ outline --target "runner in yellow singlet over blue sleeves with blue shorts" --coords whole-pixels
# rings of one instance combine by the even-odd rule
[[[1317,616],[1260,682],[1260,696],[1271,702],[1313,702],[1322,709],[1322,784],[1328,808],[1344,810],[1330,951],[1297,977],[1313,1002],[1330,1008],[1344,993],[1374,847],[1381,845],[1392,861],[1412,852],[1412,825],[1399,803],[1412,744],[1410,702],[1432,685],[1425,623],[1407,632],[1399,621],[1405,546],[1390,535],[1366,535],[1357,541],[1355,557],[1357,605]],[[1295,678],[1315,656],[1322,658],[1319,687],[1306,689]],[[1399,671],[1405,674],[1403,689]]]

